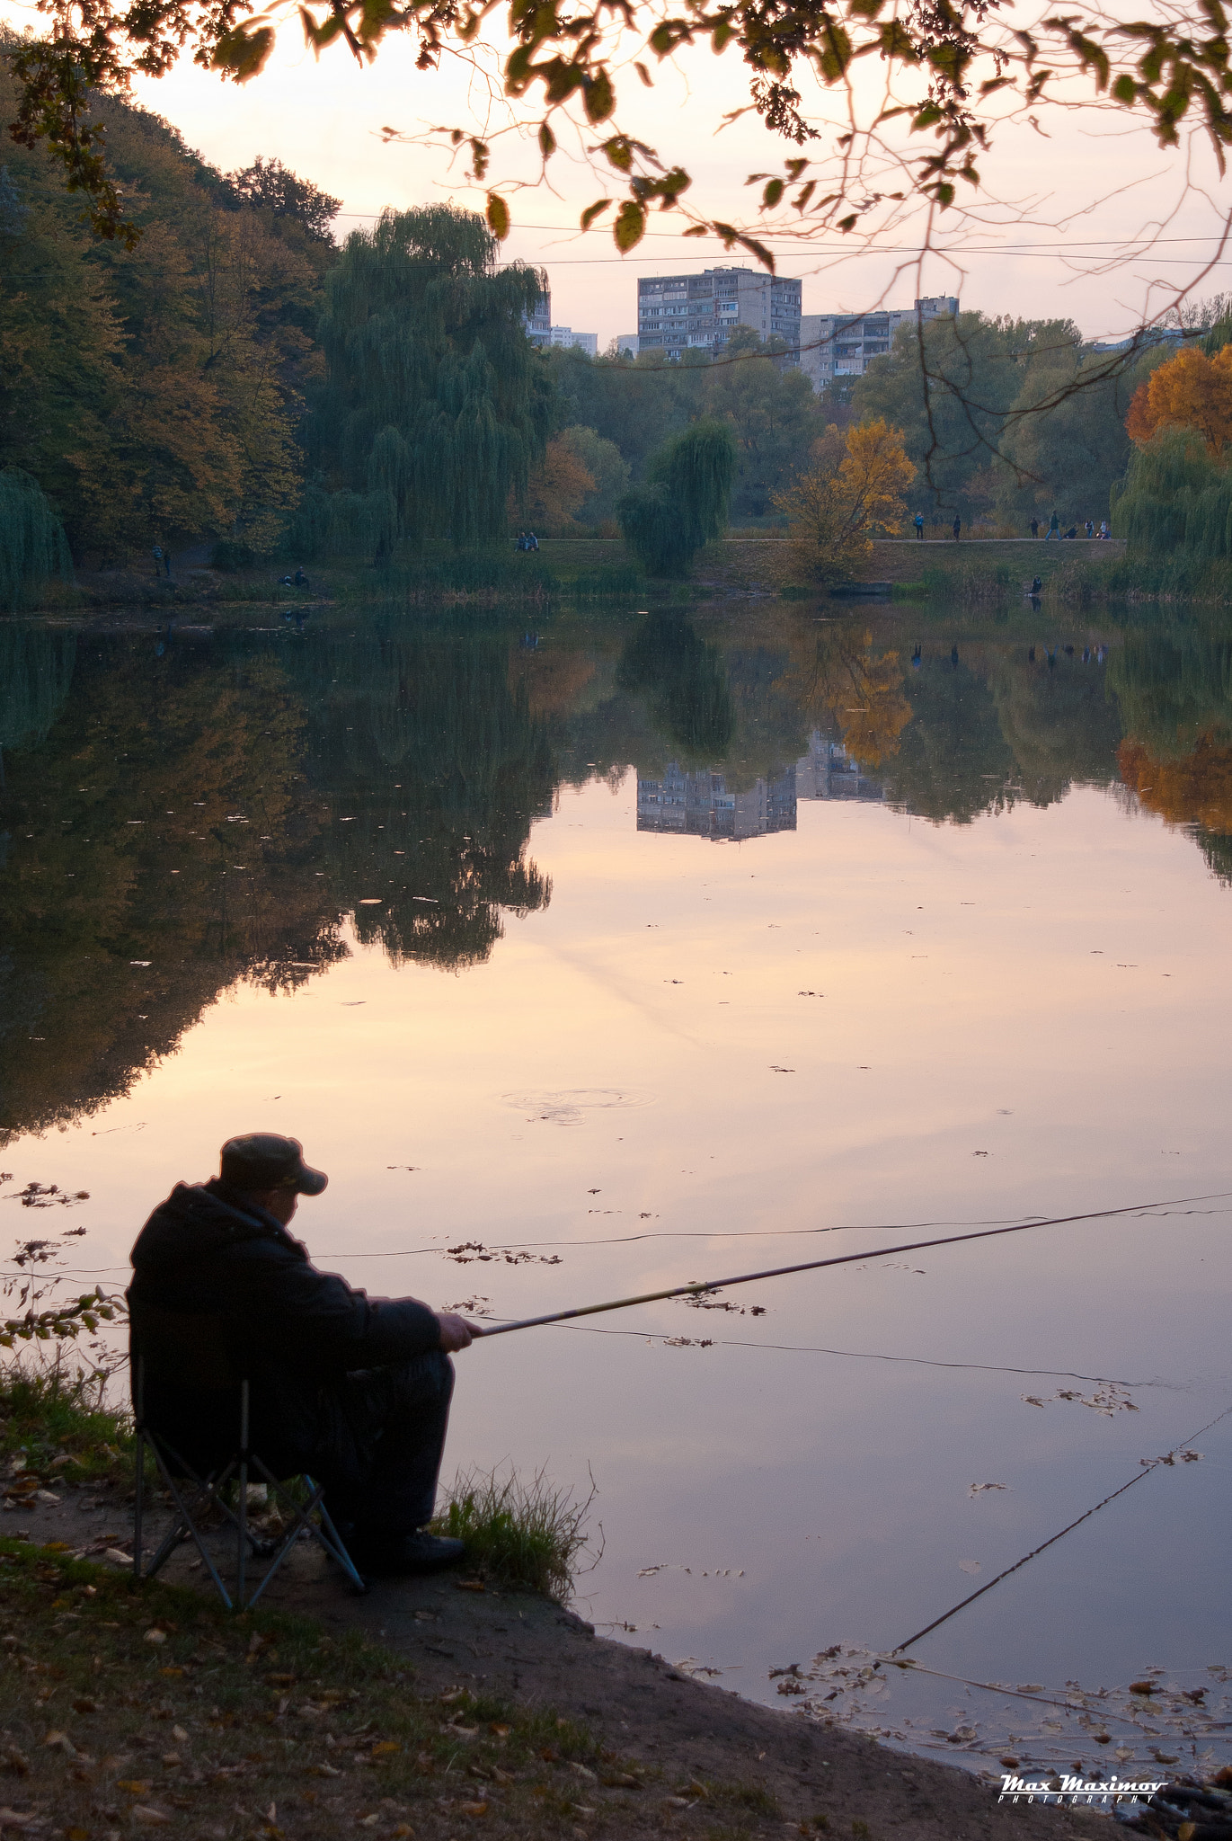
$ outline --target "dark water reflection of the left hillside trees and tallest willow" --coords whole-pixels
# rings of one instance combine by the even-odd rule
[[[44,683],[48,635],[28,637],[6,663]],[[346,952],[352,908],[394,959],[466,965],[503,908],[549,898],[525,862],[547,738],[497,643],[88,639],[59,718],[22,733],[0,793],[0,1132],[127,1092],[238,979],[306,981]]]

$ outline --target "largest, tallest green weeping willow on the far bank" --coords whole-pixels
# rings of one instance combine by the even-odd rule
[[[451,206],[385,212],[355,230],[326,280],[330,381],[322,458],[363,495],[348,530],[378,554],[401,538],[490,543],[552,425],[552,387],[525,331],[536,269],[497,269],[481,217]]]

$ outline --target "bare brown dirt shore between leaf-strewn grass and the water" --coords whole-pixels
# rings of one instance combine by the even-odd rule
[[[50,1500],[57,1497],[59,1500]],[[131,1550],[131,1508],[120,1491],[44,1491],[33,1510],[4,1517],[6,1535],[63,1541],[83,1557]],[[118,1565],[118,1557],[109,1563]],[[179,1585],[201,1585],[193,1550],[166,1569]],[[681,1675],[663,1657],[597,1637],[589,1624],[543,1598],[464,1589],[453,1574],[379,1581],[354,1596],[315,1552],[295,1552],[269,1592],[271,1607],[317,1620],[337,1635],[359,1629],[413,1670],[429,1696],[470,1688],[586,1723],[604,1747],[672,1784],[724,1782],[748,1789],[738,1830],[716,1828],[705,1800],[667,1799],[645,1826],[619,1806],[597,1812],[591,1835],[637,1834],[783,1835],[831,1834],[919,1841],[1009,1841],[1011,1835],[1090,1835],[1092,1813],[998,1806],[996,1788],[952,1766],[889,1751],[860,1734],[757,1707],[726,1688]],[[777,1813],[757,1808],[757,1791]],[[626,1799],[628,1800],[628,1799]],[[764,1800],[764,1799],[762,1799]]]

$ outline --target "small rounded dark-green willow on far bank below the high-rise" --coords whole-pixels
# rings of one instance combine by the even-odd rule
[[[683,576],[727,528],[737,446],[726,422],[694,422],[650,458],[645,486],[617,504],[624,541],[650,574]]]

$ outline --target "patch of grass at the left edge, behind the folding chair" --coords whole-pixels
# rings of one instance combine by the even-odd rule
[[[24,1460],[26,1488],[131,1473],[133,1421],[103,1405],[105,1384],[105,1373],[64,1360],[22,1360],[0,1373],[0,1454],[9,1465]]]

